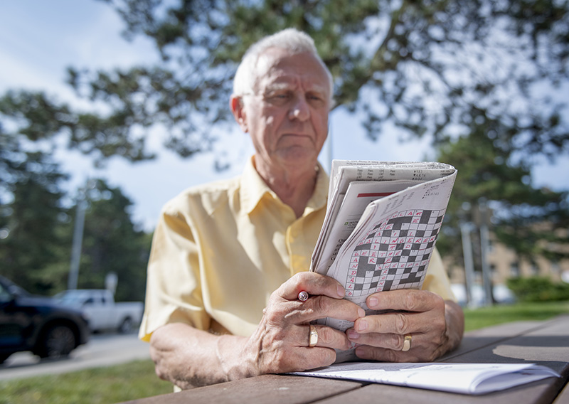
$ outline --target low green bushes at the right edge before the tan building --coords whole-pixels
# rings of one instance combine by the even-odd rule
[[[520,302],[569,301],[569,283],[553,282],[548,277],[512,278],[507,285]]]

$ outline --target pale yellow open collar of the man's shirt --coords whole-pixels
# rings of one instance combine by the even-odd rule
[[[243,206],[243,209],[248,214],[255,209],[261,199],[267,194],[272,196],[272,198],[275,200],[280,201],[280,198],[277,196],[277,194],[272,191],[269,186],[267,186],[259,173],[257,173],[255,165],[253,164],[253,159],[254,157],[251,156],[251,158],[245,164],[245,169],[243,169],[243,174],[241,175],[241,206]],[[316,187],[314,188],[312,197],[308,201],[304,215],[312,211],[317,211],[320,208],[324,208],[326,206],[328,196],[328,183],[328,174],[326,174],[326,171],[324,171],[320,163],[318,163]]]

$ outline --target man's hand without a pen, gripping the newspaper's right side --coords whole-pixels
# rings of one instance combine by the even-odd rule
[[[464,314],[458,304],[423,290],[393,290],[371,294],[366,304],[389,310],[357,319],[346,331],[359,346],[362,359],[389,362],[430,362],[456,348],[464,332]],[[402,351],[405,335],[411,336]]]

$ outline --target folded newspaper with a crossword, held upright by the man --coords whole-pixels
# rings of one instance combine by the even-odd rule
[[[420,289],[457,170],[437,162],[334,160],[311,271],[334,277],[368,314],[366,297]],[[349,321],[318,324],[345,331]],[[355,359],[338,352],[338,361]]]

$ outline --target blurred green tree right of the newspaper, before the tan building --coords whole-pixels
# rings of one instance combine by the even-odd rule
[[[491,133],[487,133],[489,127],[494,127]],[[469,137],[459,137],[440,147],[437,159],[459,167],[459,174],[437,247],[444,255],[462,262],[462,245],[457,243],[460,223],[480,228],[486,220],[497,240],[520,257],[568,258],[567,248],[562,247],[569,243],[568,192],[534,188],[528,164],[523,159],[516,161],[510,147],[504,147],[492,133],[499,130],[496,121],[473,124]],[[489,207],[489,217],[484,218],[481,205]],[[478,233],[474,233],[474,246],[480,267]]]

